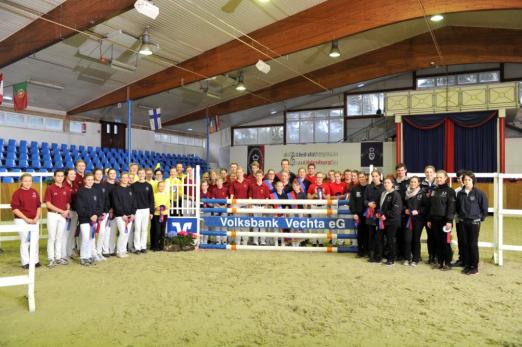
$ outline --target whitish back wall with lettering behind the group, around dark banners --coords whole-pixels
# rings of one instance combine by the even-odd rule
[[[230,147],[230,161],[239,165],[247,165],[248,146]],[[395,163],[395,142],[383,143],[383,164],[385,172],[392,172]],[[361,167],[360,143],[330,143],[308,145],[266,145],[265,170],[280,169],[281,159],[290,160],[292,171],[299,167],[306,167],[311,161],[316,163],[317,170],[354,169]]]

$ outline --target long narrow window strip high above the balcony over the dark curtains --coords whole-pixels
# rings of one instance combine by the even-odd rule
[[[495,82],[500,82],[500,71],[470,72],[440,77],[419,77],[417,89]]]

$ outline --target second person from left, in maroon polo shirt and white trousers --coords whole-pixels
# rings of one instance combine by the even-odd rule
[[[47,186],[45,191],[48,267],[68,264],[67,260],[62,259],[62,241],[71,208],[71,190],[65,186],[64,180],[65,172],[56,170],[53,184]]]

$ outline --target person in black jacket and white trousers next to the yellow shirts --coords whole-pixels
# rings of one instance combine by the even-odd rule
[[[136,220],[134,221],[134,252],[147,252],[149,221],[154,215],[154,193],[152,186],[145,181],[145,169],[138,170],[138,182],[132,184],[136,200]]]

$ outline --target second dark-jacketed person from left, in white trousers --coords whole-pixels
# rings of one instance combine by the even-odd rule
[[[96,261],[106,260],[103,256],[103,244],[107,239],[107,222],[109,220],[109,210],[111,208],[109,198],[109,184],[103,181],[103,169],[96,168],[94,173],[94,184],[93,188],[97,189],[100,193],[100,204],[102,205],[102,214],[98,218],[99,232],[97,238],[93,239],[92,245],[92,257]]]

